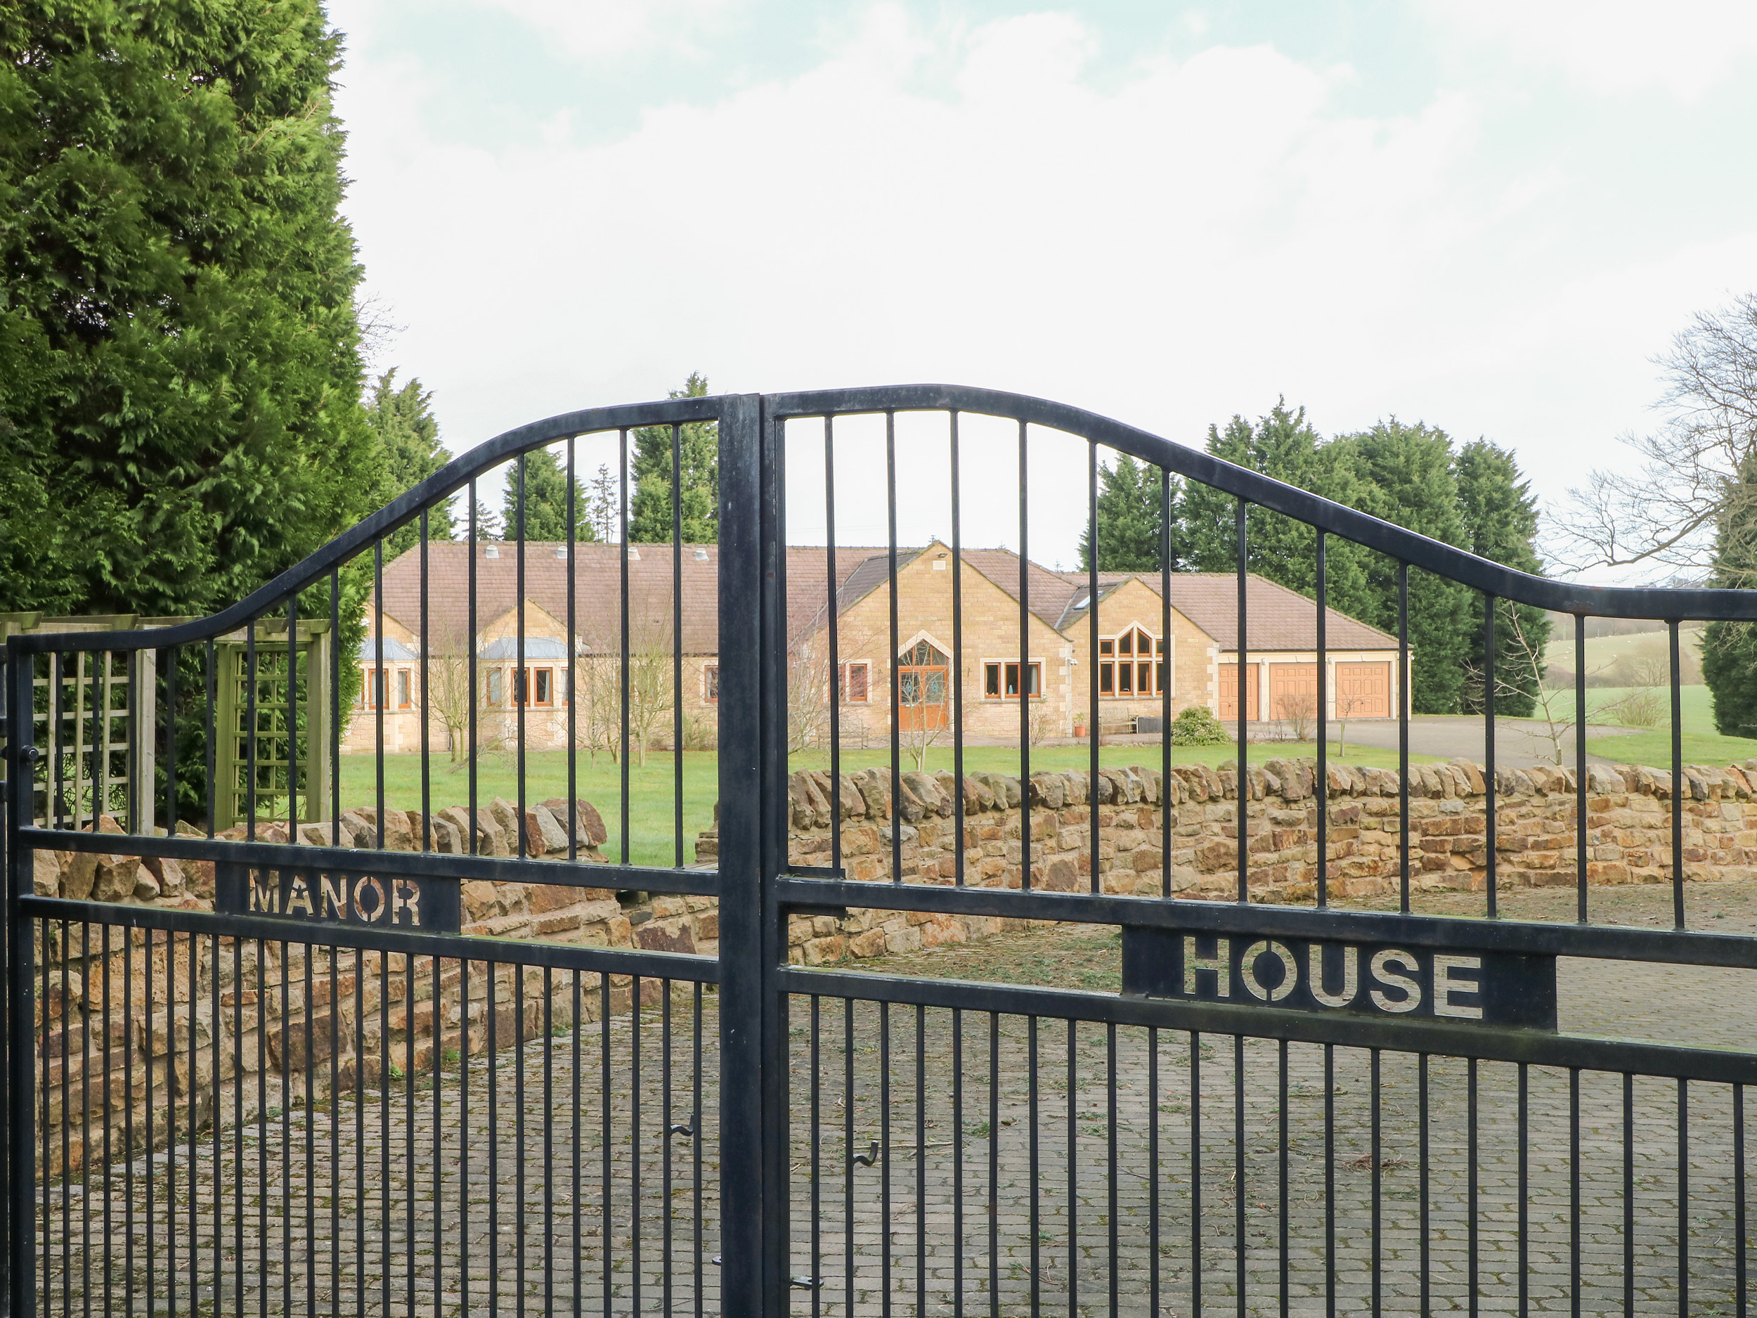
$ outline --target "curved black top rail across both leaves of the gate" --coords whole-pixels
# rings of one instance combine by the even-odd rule
[[[271,606],[286,599],[286,596],[315,585],[325,573],[371,547],[380,536],[388,536],[392,531],[420,517],[423,508],[434,506],[437,501],[455,494],[469,480],[524,452],[596,431],[717,420],[726,402],[733,397],[736,395],[717,394],[694,399],[585,408],[504,431],[494,439],[455,457],[425,482],[392,499],[353,529],[336,536],[336,540],[316,554],[288,568],[235,605],[206,619],[172,627],[130,633],[84,633],[83,643],[90,648],[137,650],[184,645],[223,634],[253,617],[260,617]],[[761,397],[766,422],[882,411],[968,411],[1051,427],[1107,445],[1142,462],[1175,471],[1179,476],[1305,522],[1320,531],[1342,536],[1344,540],[1407,562],[1413,568],[1446,576],[1500,599],[1557,613],[1757,622],[1757,590],[1585,585],[1534,576],[1532,573],[1481,559],[1453,545],[1430,540],[1370,513],[1362,513],[1135,425],[1028,394],[968,385],[877,385],[766,394]],[[14,638],[14,643],[26,654],[53,650],[56,648],[53,640],[56,634],[25,634]]]

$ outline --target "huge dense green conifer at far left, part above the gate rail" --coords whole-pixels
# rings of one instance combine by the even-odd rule
[[[320,0],[0,5],[0,608],[197,613],[367,511]]]

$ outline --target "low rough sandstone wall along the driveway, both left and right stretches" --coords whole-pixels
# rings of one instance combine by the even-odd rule
[[[791,856],[799,865],[828,865],[833,801],[840,796],[842,854],[852,879],[884,880],[893,872],[893,836],[905,879],[949,884],[959,851],[965,880],[1017,887],[1021,880],[1023,793],[1031,796],[1031,882],[1051,891],[1086,889],[1091,865],[1091,805],[1084,773],[1038,773],[1030,784],[994,773],[966,775],[965,835],[956,829],[949,773],[903,775],[901,800],[891,801],[884,770],[843,775],[796,773],[791,793]],[[1332,766],[1328,782],[1330,873],[1337,898],[1395,891],[1399,873],[1397,775],[1386,770]],[[1671,865],[1671,780],[1639,766],[1592,766],[1587,780],[1588,879],[1595,884],[1660,882]],[[1316,796],[1311,761],[1269,761],[1246,780],[1249,882],[1262,900],[1311,900],[1316,882]],[[1692,880],[1757,875],[1757,761],[1745,766],[1688,768],[1680,801],[1685,824],[1685,875]],[[894,808],[893,808],[894,807]],[[1230,898],[1235,891],[1239,791],[1233,770],[1179,766],[1168,780],[1153,768],[1103,770],[1098,782],[1098,870],[1107,893]],[[1411,845],[1416,886],[1479,889],[1486,872],[1485,784],[1469,763],[1411,770]],[[1165,812],[1172,847],[1161,847]],[[420,845],[422,819],[385,815],[385,844]],[[480,812],[478,851],[517,852],[524,829],[527,854],[566,863],[566,801],[531,807],[524,819],[508,801]],[[104,822],[105,831],[119,831]],[[1574,879],[1574,778],[1557,768],[1502,771],[1497,780],[1499,875],[1506,887],[1567,884]],[[234,829],[234,835],[241,835]],[[469,817],[441,810],[432,821],[439,851],[467,851]],[[288,831],[258,824],[258,840],[286,842]],[[350,810],[337,826],[302,824],[297,840],[376,847],[378,817]],[[585,801],[578,808],[576,849],[583,863],[603,861],[604,826]],[[717,854],[713,831],[698,840],[698,859]],[[125,854],[39,852],[35,889],[79,900],[184,910],[213,907],[211,866],[139,859]],[[713,954],[719,914],[712,898],[617,893],[610,887],[467,882],[464,931],[501,938],[541,938],[603,947],[643,947]],[[849,958],[900,954],[947,942],[980,938],[1026,921],[924,916],[850,909],[843,916],[794,916],[789,960],[822,965]],[[306,993],[309,961],[311,991]],[[148,1139],[146,1075],[153,1075],[153,1139],[190,1121],[230,1121],[304,1102],[306,1061],[313,1065],[313,1100],[334,1086],[380,1086],[388,1065],[427,1072],[436,1060],[457,1065],[488,1046],[488,974],[473,963],[469,991],[453,961],[441,963],[437,995],[432,961],[415,958],[413,991],[401,954],[343,951],[334,965],[323,949],[192,938],[190,935],[51,926],[39,935],[37,1026],[39,1075],[46,1079],[40,1119],[49,1126],[51,1167],[77,1167],[86,1149],[97,1158],[109,1130],[112,1153],[123,1149],[127,1088],[137,1146]],[[388,974],[387,974],[388,972]],[[286,993],[281,993],[281,979]],[[151,984],[148,979],[151,977]],[[553,975],[545,1017],[543,977],[497,967],[494,1037],[499,1046],[573,1025],[571,975]],[[601,1010],[596,977],[582,998],[587,1021]],[[125,982],[127,1002],[125,1002]],[[214,993],[218,991],[218,1012]],[[629,1009],[631,984],[611,981],[613,1012]],[[332,1046],[334,1033],[334,1046]],[[307,1047],[309,1040],[309,1047]],[[265,1065],[258,1068],[257,1058]],[[281,1088],[283,1067],[288,1086]],[[218,1083],[216,1083],[218,1074]],[[395,1072],[392,1075],[395,1081]],[[65,1141],[63,1141],[65,1133]],[[88,1142],[90,1141],[90,1142]]]

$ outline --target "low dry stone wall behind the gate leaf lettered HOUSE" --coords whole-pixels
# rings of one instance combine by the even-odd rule
[[[1270,759],[1246,780],[1247,873],[1254,900],[1311,902],[1318,886],[1318,766]],[[1502,887],[1574,882],[1576,791],[1573,770],[1500,770],[1495,778],[1497,879]],[[951,773],[901,775],[893,819],[891,775],[861,770],[831,784],[828,773],[789,782],[796,865],[831,863],[835,801],[842,810],[842,859],[850,879],[889,879],[893,828],[905,880],[949,884],[963,854],[965,882],[1019,887],[1024,786],[1000,773],[963,782],[965,835],[958,836],[958,782]],[[1091,886],[1091,814],[1086,773],[1035,773],[1031,794],[1031,886],[1086,891]],[[1399,886],[1399,775],[1392,770],[1328,768],[1328,886],[1334,898],[1379,896]],[[1481,889],[1488,873],[1486,784],[1471,761],[1411,766],[1409,845],[1413,884]],[[1232,766],[1174,766],[1161,784],[1146,766],[1098,777],[1098,884],[1105,893],[1186,898],[1237,894],[1239,784]],[[1172,815],[1165,852],[1165,812]],[[1671,775],[1636,764],[1587,770],[1587,877],[1594,884],[1671,879]],[[1725,768],[1687,766],[1683,775],[1685,879],[1757,877],[1757,761]],[[717,836],[698,842],[713,858]],[[1023,926],[1024,921],[849,910],[843,919],[796,917],[791,960],[822,965],[845,958],[912,952]]]

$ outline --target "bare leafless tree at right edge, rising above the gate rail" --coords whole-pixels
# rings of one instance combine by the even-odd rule
[[[1636,471],[1594,471],[1569,490],[1548,525],[1564,568],[1646,568],[1650,576],[1701,580],[1715,566],[1717,525],[1757,527],[1757,293],[1697,313],[1657,358],[1664,422],[1627,434]],[[1739,517],[1739,513],[1746,513]],[[1757,536],[1757,531],[1745,534]],[[1739,548],[1739,547],[1734,547]],[[1757,562],[1757,545],[1724,554]],[[1727,582],[1750,585],[1750,582]]]

